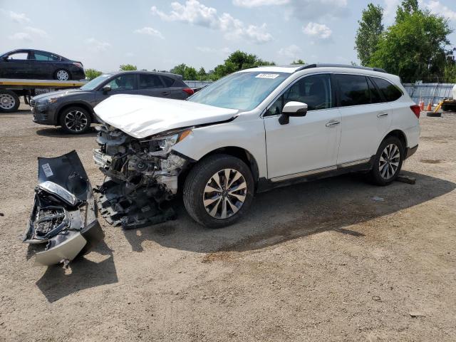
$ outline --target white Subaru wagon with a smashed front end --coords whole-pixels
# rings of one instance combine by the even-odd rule
[[[418,148],[420,108],[382,69],[312,64],[232,73],[185,101],[114,95],[95,107],[103,216],[160,222],[182,193],[224,227],[255,192],[345,172],[388,185]]]

